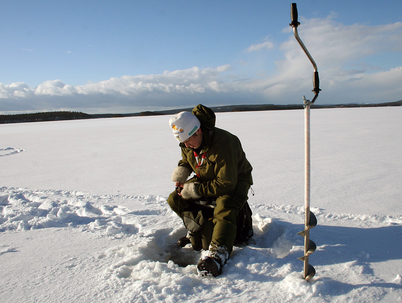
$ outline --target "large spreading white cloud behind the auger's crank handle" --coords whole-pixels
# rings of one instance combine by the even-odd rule
[[[285,32],[292,33],[292,29],[286,28]],[[323,89],[320,102],[380,103],[402,99],[402,88],[397,84],[402,79],[400,62],[389,70],[380,65],[373,67],[369,61],[390,51],[402,52],[401,22],[346,26],[330,17],[302,20],[298,34],[318,65]],[[276,62],[275,73],[242,85],[253,91],[262,90],[270,100],[283,100],[286,95],[287,103],[292,103],[303,94],[309,97],[313,88],[310,60],[292,34],[279,48],[284,59]],[[362,63],[365,69],[360,68]],[[384,81],[385,78],[388,80]]]

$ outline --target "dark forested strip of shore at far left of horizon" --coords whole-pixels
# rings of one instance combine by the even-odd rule
[[[78,119],[92,119],[92,117],[81,112],[45,112],[33,114],[0,115],[0,124]]]

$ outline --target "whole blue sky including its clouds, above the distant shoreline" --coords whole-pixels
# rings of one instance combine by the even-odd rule
[[[320,104],[402,99],[402,1],[298,1]],[[301,104],[291,2],[0,1],[0,113]]]

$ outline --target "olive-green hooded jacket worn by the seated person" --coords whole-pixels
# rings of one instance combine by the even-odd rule
[[[182,159],[178,165],[187,167],[197,174],[200,182],[197,190],[205,197],[218,197],[233,191],[239,181],[253,184],[252,166],[246,158],[240,140],[233,134],[215,127],[215,113],[197,105],[193,110],[201,122],[204,146],[199,153],[199,161],[205,155],[199,167],[192,149],[180,143]]]

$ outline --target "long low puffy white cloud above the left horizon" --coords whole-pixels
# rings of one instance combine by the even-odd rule
[[[188,105],[197,99],[213,99],[214,94],[233,91],[233,85],[220,76],[230,68],[230,65],[204,69],[194,66],[162,74],[114,77],[78,86],[61,80],[45,81],[36,88],[23,82],[0,83],[0,108],[8,112],[18,111],[19,107],[24,107],[24,111],[85,108],[96,113],[101,108],[108,112],[115,109],[131,112],[148,107]],[[227,98],[223,96],[222,100]]]

